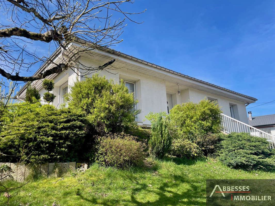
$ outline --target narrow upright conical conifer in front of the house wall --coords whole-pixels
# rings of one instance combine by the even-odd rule
[[[168,151],[171,141],[167,118],[163,118],[160,112],[156,120],[152,119],[152,134],[149,140],[150,156],[162,158]]]

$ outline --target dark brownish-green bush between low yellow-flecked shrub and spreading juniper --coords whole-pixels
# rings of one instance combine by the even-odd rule
[[[205,156],[216,154],[221,149],[221,141],[224,140],[223,133],[197,134],[194,141]]]

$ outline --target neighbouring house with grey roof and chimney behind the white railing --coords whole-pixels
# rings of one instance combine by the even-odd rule
[[[252,112],[248,112],[248,124],[275,136],[275,114],[252,117]]]

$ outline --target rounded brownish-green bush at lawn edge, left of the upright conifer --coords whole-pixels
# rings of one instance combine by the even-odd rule
[[[100,138],[96,161],[103,166],[126,168],[143,166],[145,144],[124,133],[107,134]]]

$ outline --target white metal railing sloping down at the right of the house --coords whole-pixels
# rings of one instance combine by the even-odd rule
[[[246,132],[256,137],[266,138],[266,140],[270,144],[270,148],[273,148],[273,149],[275,148],[275,136],[269,133],[263,132],[262,130],[259,130],[255,127],[252,127],[248,124],[245,124],[237,119],[234,119],[222,113],[221,113],[221,127],[222,127],[222,131],[227,134],[231,132],[237,132],[237,133]]]

